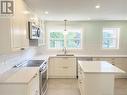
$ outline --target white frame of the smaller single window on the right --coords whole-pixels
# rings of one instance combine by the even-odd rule
[[[117,45],[116,45],[116,48],[104,48],[103,47],[103,31],[104,31],[104,29],[119,29],[119,31],[118,31],[118,33],[117,33],[117,37],[116,37],[116,41],[117,41]],[[118,27],[104,27],[103,29],[102,29],[102,44],[101,44],[101,48],[103,49],[103,50],[119,50],[120,49],[120,27],[118,28]]]

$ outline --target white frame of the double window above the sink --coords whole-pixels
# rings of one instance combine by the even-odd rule
[[[51,32],[53,32],[53,31],[48,31],[48,49],[51,49],[51,50],[56,50],[56,49],[58,49],[58,50],[61,50],[61,49],[63,49],[63,48],[51,48],[50,47],[50,33]],[[64,32],[63,30],[62,31],[57,31],[57,30],[55,30],[55,32]],[[76,30],[73,30],[73,31],[68,31],[68,32],[77,32]],[[80,32],[80,34],[81,34],[81,37],[80,37],[80,43],[81,43],[81,45],[80,45],[80,48],[68,48],[67,47],[67,36],[65,36],[64,34],[64,47],[66,47],[68,50],[80,50],[80,49],[82,49],[82,31],[81,30],[78,30],[78,32]]]

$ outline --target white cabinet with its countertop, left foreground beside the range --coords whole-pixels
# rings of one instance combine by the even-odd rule
[[[0,95],[40,95],[39,90],[39,72],[32,67],[0,81]]]

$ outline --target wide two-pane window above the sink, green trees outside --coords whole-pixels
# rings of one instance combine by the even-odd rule
[[[64,34],[64,31],[50,31],[48,33],[48,48],[49,49],[81,49],[81,32],[80,31],[68,31]]]

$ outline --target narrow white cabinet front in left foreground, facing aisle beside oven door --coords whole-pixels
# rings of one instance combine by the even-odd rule
[[[39,95],[39,75],[33,76],[32,80],[28,84],[27,95]]]

